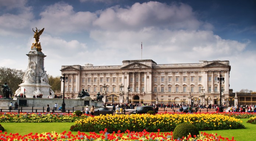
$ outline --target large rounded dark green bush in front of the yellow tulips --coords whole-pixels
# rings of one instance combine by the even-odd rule
[[[194,135],[199,135],[199,131],[195,126],[189,123],[181,123],[175,127],[173,131],[173,138],[178,139],[182,137],[187,137],[189,133],[192,137]]]

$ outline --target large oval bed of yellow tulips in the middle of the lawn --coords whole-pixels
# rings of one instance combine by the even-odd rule
[[[191,123],[198,130],[243,129],[240,119],[221,114],[132,114],[132,115],[101,115],[75,121],[71,131],[96,131],[107,128],[110,132],[121,130],[131,131],[173,131],[180,123]],[[88,128],[90,127],[90,128]]]

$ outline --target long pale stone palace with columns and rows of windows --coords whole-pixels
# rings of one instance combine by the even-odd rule
[[[86,89],[92,99],[100,92],[104,102],[111,103],[183,104],[220,104],[221,93],[225,104],[230,70],[229,61],[220,60],[187,64],[123,60],[120,66],[61,66],[61,74],[68,77],[61,92],[65,90],[66,97],[77,97]],[[220,76],[225,79],[221,85]]]

